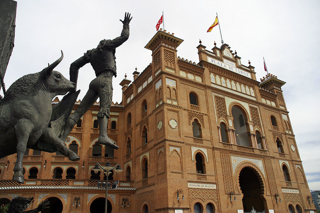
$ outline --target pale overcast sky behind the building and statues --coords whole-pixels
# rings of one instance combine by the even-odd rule
[[[268,71],[287,82],[284,98],[303,161],[309,188],[320,189],[319,145],[319,15],[320,1],[43,1],[18,0],[15,42],[4,82],[7,88],[21,76],[39,72],[64,53],[55,68],[69,78],[70,64],[102,39],[120,35],[124,13],[132,15],[130,37],[116,49],[117,77],[113,101],[121,102],[120,81],[137,67],[142,72],[152,61],[144,46],[156,33],[164,11],[167,32],[184,40],[177,48],[181,58],[199,62],[196,47],[216,41],[219,27],[207,29],[219,15],[222,38],[236,50],[244,65],[255,67],[257,80]],[[163,28],[163,25],[161,25]],[[79,71],[79,99],[95,74],[90,64]],[[61,99],[61,98],[60,98]]]

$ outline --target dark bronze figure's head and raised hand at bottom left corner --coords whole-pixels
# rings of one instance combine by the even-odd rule
[[[38,213],[44,209],[49,208],[50,202],[45,200],[41,202],[36,209],[24,211],[28,208],[28,206],[33,202],[33,197],[25,198],[25,197],[15,197],[10,201],[9,209],[7,213]]]

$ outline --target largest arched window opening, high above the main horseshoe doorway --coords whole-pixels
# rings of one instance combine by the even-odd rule
[[[236,142],[240,146],[250,147],[249,135],[247,126],[245,124],[246,117],[244,113],[237,106],[233,106],[231,109],[233,117],[233,125],[236,129]]]

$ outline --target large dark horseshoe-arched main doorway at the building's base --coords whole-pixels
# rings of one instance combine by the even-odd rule
[[[242,204],[244,211],[265,210],[266,199],[263,197],[264,186],[259,173],[252,167],[244,167],[240,171],[239,185],[243,194]]]

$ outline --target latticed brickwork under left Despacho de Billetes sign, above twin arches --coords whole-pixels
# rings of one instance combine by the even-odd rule
[[[212,199],[215,204],[217,205],[217,212],[219,211],[219,202],[217,197],[217,190],[215,189],[197,189],[197,188],[189,188],[189,206],[190,209],[193,209],[191,207],[191,202],[195,199],[201,199],[203,201],[206,201],[208,199]]]

